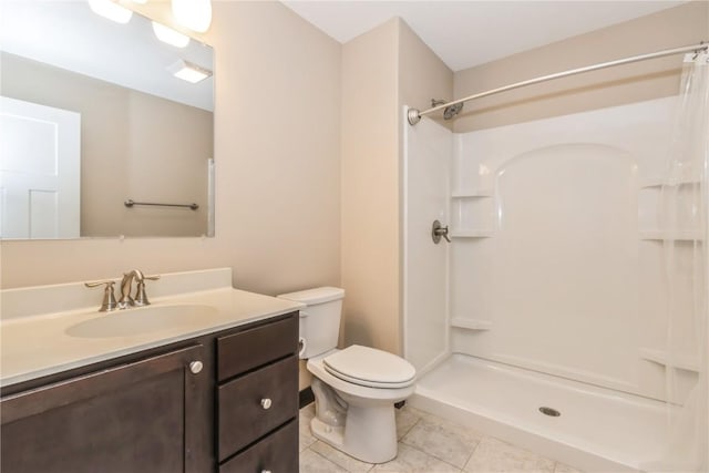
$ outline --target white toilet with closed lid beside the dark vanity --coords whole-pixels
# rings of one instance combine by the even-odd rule
[[[413,394],[413,366],[374,348],[337,349],[343,289],[319,287],[278,297],[307,306],[300,310],[299,356],[314,376],[312,434],[363,462],[395,457],[394,403]]]

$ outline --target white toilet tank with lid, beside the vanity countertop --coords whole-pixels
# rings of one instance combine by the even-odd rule
[[[278,297],[308,306],[300,309],[300,358],[312,358],[337,348],[345,289],[318,287]]]

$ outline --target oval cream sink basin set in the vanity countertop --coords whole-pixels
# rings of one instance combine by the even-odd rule
[[[66,329],[66,335],[83,338],[130,337],[189,323],[216,313],[209,306],[148,306],[106,312]]]

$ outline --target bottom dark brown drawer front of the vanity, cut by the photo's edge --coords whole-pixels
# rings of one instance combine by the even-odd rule
[[[298,471],[298,421],[294,420],[222,466],[219,473]]]

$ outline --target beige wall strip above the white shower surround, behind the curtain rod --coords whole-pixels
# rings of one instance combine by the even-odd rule
[[[455,97],[709,39],[709,2],[693,1],[455,73]],[[467,102],[455,132],[577,113],[677,93],[681,56],[558,79]]]

